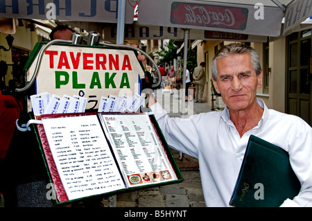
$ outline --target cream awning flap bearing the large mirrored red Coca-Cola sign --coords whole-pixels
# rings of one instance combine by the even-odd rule
[[[263,35],[281,35],[312,15],[311,0],[144,0],[139,3],[139,25]],[[286,13],[285,13],[286,12]]]

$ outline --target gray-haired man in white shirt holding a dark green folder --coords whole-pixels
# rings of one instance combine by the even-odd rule
[[[297,116],[268,109],[256,98],[262,83],[257,52],[242,44],[224,46],[212,60],[211,71],[227,105],[223,112],[169,118],[153,98],[149,104],[168,145],[198,158],[206,205],[229,206],[248,139],[254,134],[290,154],[302,184],[300,193],[281,206],[312,206],[312,128]]]

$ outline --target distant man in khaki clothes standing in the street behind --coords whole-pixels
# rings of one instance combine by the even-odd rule
[[[195,80],[195,103],[204,103],[202,100],[202,95],[204,94],[206,75],[205,75],[205,67],[206,63],[201,62],[198,67],[194,69],[193,77]]]

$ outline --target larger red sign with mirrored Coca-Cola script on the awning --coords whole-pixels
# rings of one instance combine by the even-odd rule
[[[224,7],[193,3],[173,2],[171,23],[192,26],[209,26],[245,30],[247,8]]]

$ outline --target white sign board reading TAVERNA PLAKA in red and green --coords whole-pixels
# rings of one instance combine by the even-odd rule
[[[37,55],[38,57],[38,55]],[[37,58],[27,71],[33,76]],[[87,46],[52,45],[46,48],[36,78],[36,94],[87,98],[86,109],[97,109],[101,96],[139,93],[144,70],[134,51]]]

